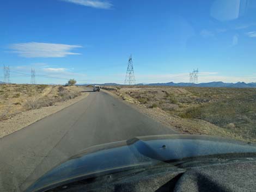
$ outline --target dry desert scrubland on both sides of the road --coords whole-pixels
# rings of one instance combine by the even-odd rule
[[[185,134],[256,141],[255,88],[103,86],[157,121]],[[82,94],[84,86],[0,85],[0,120]]]

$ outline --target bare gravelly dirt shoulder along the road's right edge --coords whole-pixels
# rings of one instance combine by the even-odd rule
[[[175,131],[181,134],[204,134],[204,135],[214,135],[218,137],[224,137],[229,139],[239,139],[245,141],[254,141],[252,139],[246,139],[241,137],[239,134],[235,134],[227,128],[222,128],[216,126],[208,121],[199,119],[185,119],[174,114],[170,114],[160,107],[149,107],[146,104],[139,102],[137,99],[126,94],[127,90],[113,89],[111,87],[103,88],[114,97],[120,98],[125,102],[129,103],[133,108],[139,110],[139,112],[150,116],[156,121],[161,122]],[[123,89],[123,88],[121,88]],[[131,91],[131,90],[129,90]],[[137,91],[133,89],[132,91]]]

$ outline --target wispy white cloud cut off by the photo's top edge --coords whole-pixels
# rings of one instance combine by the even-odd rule
[[[113,7],[112,3],[109,3],[108,1],[100,1],[100,0],[61,0],[61,1],[75,3],[78,5],[93,7],[97,9],[111,9]]]

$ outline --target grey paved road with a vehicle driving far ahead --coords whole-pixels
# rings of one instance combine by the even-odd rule
[[[106,92],[90,92],[86,99],[0,139],[0,191],[24,190],[86,147],[172,133]]]

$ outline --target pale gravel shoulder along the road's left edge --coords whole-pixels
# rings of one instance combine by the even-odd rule
[[[83,92],[81,96],[78,96],[72,100],[58,102],[56,105],[50,107],[43,107],[40,109],[22,112],[14,117],[11,117],[10,119],[0,121],[0,138],[27,127],[28,125],[31,125],[32,123],[39,121],[46,116],[56,113],[59,110],[62,110],[71,104],[86,98],[88,95],[88,93]]]

